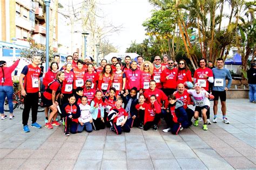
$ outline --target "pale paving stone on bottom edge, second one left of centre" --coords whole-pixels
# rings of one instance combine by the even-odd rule
[[[100,169],[101,160],[78,160],[72,169]]]

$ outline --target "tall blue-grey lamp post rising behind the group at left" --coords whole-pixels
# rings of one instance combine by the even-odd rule
[[[44,0],[45,8],[46,8],[46,58],[45,58],[45,67],[46,70],[49,67],[49,8],[51,0]]]

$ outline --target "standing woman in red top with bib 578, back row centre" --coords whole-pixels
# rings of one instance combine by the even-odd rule
[[[120,63],[116,64],[116,72],[114,73],[113,76],[113,83],[112,87],[116,89],[116,96],[124,93],[124,88],[125,88],[125,73],[122,72],[121,70],[121,65]]]

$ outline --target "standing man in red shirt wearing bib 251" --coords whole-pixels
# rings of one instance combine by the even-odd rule
[[[204,88],[208,93],[209,83],[213,83],[213,73],[212,70],[206,67],[206,59],[202,58],[199,60],[200,68],[196,69],[194,72],[194,83],[199,83],[202,88]],[[212,124],[210,121],[210,109],[206,112],[207,115],[207,124]]]

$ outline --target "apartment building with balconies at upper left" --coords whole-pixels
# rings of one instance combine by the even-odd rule
[[[13,47],[29,47],[28,39],[45,45],[46,23],[42,5],[38,0],[1,0],[0,6],[0,56],[4,56],[6,50],[10,51]],[[54,18],[52,47],[57,52],[58,16]]]

